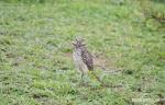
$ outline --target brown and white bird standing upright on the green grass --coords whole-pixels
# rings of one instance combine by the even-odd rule
[[[73,45],[75,48],[73,51],[73,59],[76,68],[81,73],[81,79],[84,79],[85,75],[88,75],[88,71],[94,70],[92,55],[87,50],[84,38],[76,38]]]

